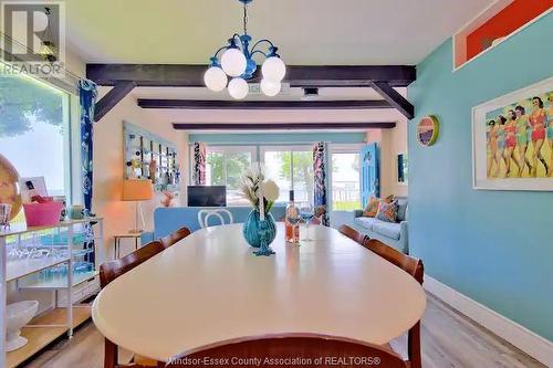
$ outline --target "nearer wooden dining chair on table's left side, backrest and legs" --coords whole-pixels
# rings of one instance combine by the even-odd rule
[[[137,265],[146,262],[154,255],[165,250],[160,241],[153,241],[138,250],[125,255],[122,259],[107,261],[100,265],[100,286],[106,287],[111,282]],[[127,367],[156,367],[157,361],[135,356],[134,365],[118,364],[118,347],[113,341],[104,338],[104,368],[127,368]]]

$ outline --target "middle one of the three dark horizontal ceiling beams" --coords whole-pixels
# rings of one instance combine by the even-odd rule
[[[138,98],[143,108],[175,109],[374,109],[393,108],[384,99],[351,101],[218,101]]]

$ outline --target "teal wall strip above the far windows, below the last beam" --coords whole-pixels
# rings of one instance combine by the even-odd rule
[[[365,133],[247,133],[247,134],[190,134],[188,141],[208,144],[312,144],[328,141],[334,144],[359,144],[365,141]]]

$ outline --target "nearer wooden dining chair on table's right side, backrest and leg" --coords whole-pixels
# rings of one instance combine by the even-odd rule
[[[407,272],[422,285],[425,266],[421,260],[404,254],[376,239],[365,239],[364,245],[386,261]],[[407,355],[411,368],[422,367],[422,358],[420,355],[420,320],[407,333]]]

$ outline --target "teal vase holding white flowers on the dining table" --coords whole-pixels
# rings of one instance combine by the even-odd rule
[[[250,246],[258,249],[255,255],[271,255],[270,248],[276,236],[276,223],[270,213],[274,201],[279,198],[279,186],[273,180],[265,180],[259,162],[255,162],[241,176],[238,188],[251,207],[242,234]]]

